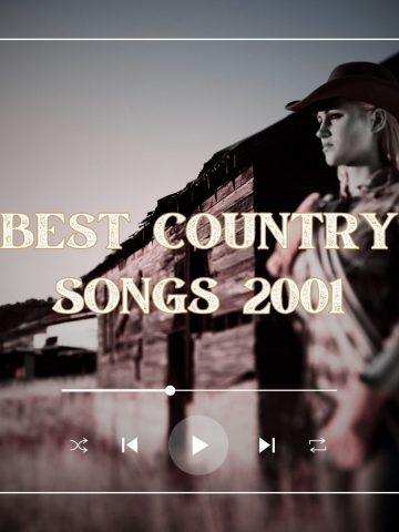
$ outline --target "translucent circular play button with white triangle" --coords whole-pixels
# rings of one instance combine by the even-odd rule
[[[190,474],[207,474],[225,461],[228,439],[224,428],[207,416],[191,416],[171,432],[168,450],[174,463]]]

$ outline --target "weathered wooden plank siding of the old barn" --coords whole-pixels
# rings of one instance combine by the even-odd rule
[[[234,182],[226,183],[192,214],[206,212],[222,221],[222,213],[252,211],[253,174],[249,168]],[[198,227],[198,235],[206,238],[208,231],[208,225],[204,223]],[[242,224],[238,224],[238,242],[242,232]],[[171,242],[184,238],[184,225],[171,226],[167,238]],[[185,246],[172,252],[152,239],[104,277],[115,283],[120,277],[132,277],[135,283],[140,282],[140,277],[151,277],[155,284],[165,277],[177,276],[186,280],[185,293],[190,294],[190,280],[198,268],[190,264],[193,258],[187,258],[187,249],[188,246]],[[200,331],[192,329],[190,317],[166,315],[153,305],[149,315],[132,304],[130,315],[113,311],[100,316],[99,378],[102,386],[165,386],[168,336],[176,330],[192,336],[195,386],[223,387],[254,368],[254,327],[252,323],[243,323],[241,313],[249,297],[244,283],[254,276],[254,249],[234,250],[222,239],[202,257],[207,265],[200,265],[200,269],[207,270],[218,283],[214,293],[219,298],[219,309],[206,318],[206,326]],[[223,316],[226,317],[225,323]],[[229,320],[232,316],[234,325]],[[214,326],[216,318],[217,327]]]

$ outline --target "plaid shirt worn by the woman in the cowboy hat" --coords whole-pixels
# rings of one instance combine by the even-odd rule
[[[377,213],[385,219],[399,206],[399,174],[382,168],[357,194],[320,198],[314,212]],[[300,284],[318,277],[326,282],[342,277],[345,315],[300,314],[307,357],[307,379],[317,389],[344,389],[356,376],[370,387],[395,396],[399,390],[399,223],[387,228],[388,250],[370,249],[374,232],[366,221],[354,238],[359,249],[316,249],[300,252],[293,265],[293,277]],[[321,239],[320,239],[321,241]],[[331,278],[326,264],[340,265],[342,276]],[[311,397],[317,424],[328,421],[336,408],[332,392]]]

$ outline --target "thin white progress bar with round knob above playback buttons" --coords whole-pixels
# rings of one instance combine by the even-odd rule
[[[233,393],[248,393],[248,392],[336,392],[335,388],[175,388],[174,386],[166,386],[165,388],[62,388],[62,393],[166,393],[166,396],[174,396],[178,391],[190,392],[233,392]]]

